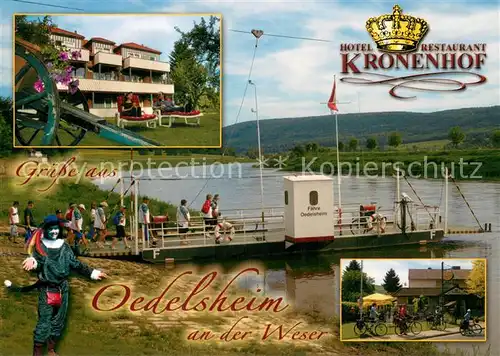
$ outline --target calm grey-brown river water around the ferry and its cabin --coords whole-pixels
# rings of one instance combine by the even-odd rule
[[[207,179],[210,168],[182,167],[148,172],[142,175],[140,194],[177,204],[188,200],[192,209],[198,210],[207,193],[219,193],[220,207],[224,210],[259,208],[261,206],[259,170],[250,164],[224,165],[212,169],[214,178]],[[263,200],[266,207],[283,206],[283,173],[265,170],[263,173]],[[444,208],[445,189],[442,180],[410,180],[411,185],[426,205]],[[103,189],[111,189],[114,181],[96,182]],[[248,261],[258,263],[265,272],[263,278],[246,280],[264,286],[268,295],[285,295],[299,309],[316,311],[324,316],[338,316],[339,311],[339,262],[340,258],[487,258],[488,259],[488,319],[486,343],[476,344],[480,350],[490,349],[491,356],[500,356],[500,308],[496,300],[500,295],[500,184],[460,182],[465,195],[481,224],[491,223],[492,233],[451,235],[445,241],[455,241],[454,248],[442,246],[404,247],[382,251],[346,252],[319,256],[294,257],[272,260]],[[478,225],[458,189],[449,184],[449,227],[460,226],[477,229]],[[382,209],[391,209],[396,198],[396,182],[392,177],[342,177],[342,205],[376,203]],[[335,188],[335,193],[337,188]],[[411,188],[401,182],[401,192],[415,199]],[[154,212],[153,212],[154,213]],[[236,263],[223,266],[230,269]],[[440,344],[444,345],[444,344]],[[447,344],[450,349],[467,350],[468,343]]]

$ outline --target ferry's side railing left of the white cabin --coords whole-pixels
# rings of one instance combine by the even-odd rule
[[[284,216],[274,215],[272,217],[247,216],[245,218],[225,218],[235,229],[231,236],[231,243],[248,244],[267,241],[266,235],[282,232],[284,230]],[[219,223],[223,219],[219,220]],[[155,245],[147,246],[145,239],[142,239],[143,250],[154,250],[158,248],[179,248],[179,247],[198,247],[213,246],[215,243],[215,226],[207,225],[204,219],[194,217],[189,224],[189,230],[186,233],[180,233],[181,227],[177,221],[166,221],[156,224],[150,224],[150,236],[156,239]],[[231,232],[220,231],[221,237],[230,236]],[[282,235],[282,234],[281,234]],[[281,236],[282,238],[282,236]]]

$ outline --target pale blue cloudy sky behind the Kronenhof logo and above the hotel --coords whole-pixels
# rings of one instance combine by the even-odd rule
[[[150,12],[216,12],[223,15],[223,112],[224,125],[255,120],[251,109],[258,98],[260,119],[326,115],[326,105],[333,77],[342,75],[340,43],[371,43],[365,30],[368,18],[392,12],[395,2],[379,1],[324,1],[324,0],[268,0],[268,1],[163,1],[163,0],[81,0],[68,3],[62,0],[39,2],[75,6],[86,13],[150,13]],[[398,1],[403,13],[424,18],[430,30],[422,43],[486,43],[488,57],[478,71],[487,77],[487,83],[470,86],[455,93],[417,93],[413,100],[398,100],[388,94],[387,86],[358,86],[337,83],[339,114],[383,111],[439,111],[462,107],[500,104],[500,6],[497,1],[448,0],[437,5],[431,1]],[[69,5],[77,4],[77,5]],[[362,5],[362,6],[361,6]],[[11,21],[17,12],[79,12],[47,6],[5,0],[0,10],[0,95],[11,91]],[[80,13],[82,13],[80,11]],[[173,24],[189,28],[189,18],[128,17],[100,21],[98,17],[78,17],[60,23],[73,26],[88,37],[109,37],[119,42],[134,41],[170,51],[176,34]],[[262,29],[251,80],[247,83],[255,38],[252,29]],[[233,32],[246,31],[248,33]],[[313,42],[296,39],[266,37],[279,34],[329,40]],[[408,72],[411,74],[411,72]],[[398,72],[386,72],[398,75]],[[414,92],[412,93],[414,94]],[[244,99],[244,100],[243,100]],[[359,100],[358,100],[359,99]],[[243,100],[243,106],[240,105]],[[238,115],[238,112],[240,115]]]

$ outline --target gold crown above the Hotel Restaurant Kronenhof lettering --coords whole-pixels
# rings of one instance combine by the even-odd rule
[[[394,5],[392,15],[372,17],[366,21],[366,29],[380,51],[410,52],[417,49],[429,26],[423,19],[402,15],[399,5]]]

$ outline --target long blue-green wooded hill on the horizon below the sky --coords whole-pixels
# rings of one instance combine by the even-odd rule
[[[381,112],[338,115],[339,139],[356,138],[363,145],[375,137],[379,146],[386,144],[391,132],[399,132],[403,143],[443,140],[450,128],[459,126],[471,137],[485,137],[500,129],[500,106],[445,110],[432,113]],[[261,120],[263,152],[288,151],[298,144],[315,142],[321,146],[335,145],[335,120],[331,115]],[[224,147],[238,153],[257,147],[255,121],[224,127]]]

